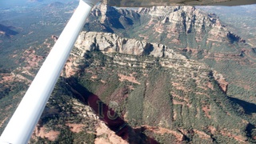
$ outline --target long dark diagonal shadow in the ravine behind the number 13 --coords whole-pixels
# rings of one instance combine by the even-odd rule
[[[158,143],[153,138],[146,136],[141,131],[134,130],[122,118],[118,116],[106,103],[102,102],[97,95],[90,93],[85,87],[78,84],[75,78],[66,78],[75,98],[90,106],[98,117],[106,123],[110,130],[114,131],[122,139],[129,143]]]

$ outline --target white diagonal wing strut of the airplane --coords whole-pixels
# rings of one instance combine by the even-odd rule
[[[46,58],[38,74],[26,91],[10,122],[3,131],[0,143],[25,144],[46,106],[54,85],[70,55],[74,42],[98,0],[80,0],[77,10]]]

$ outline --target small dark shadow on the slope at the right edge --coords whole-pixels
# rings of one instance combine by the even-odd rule
[[[256,105],[254,103],[242,101],[238,98],[229,97],[232,102],[237,103],[239,106],[242,106],[243,110],[245,110],[246,114],[256,113]]]

